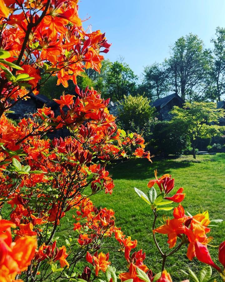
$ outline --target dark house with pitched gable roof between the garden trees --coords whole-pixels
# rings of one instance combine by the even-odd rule
[[[166,97],[157,99],[151,103],[151,106],[156,108],[159,120],[168,121],[171,120],[171,115],[169,112],[172,110],[173,106],[178,106],[181,108],[183,107],[183,103],[185,103],[185,101],[180,96],[173,93]]]

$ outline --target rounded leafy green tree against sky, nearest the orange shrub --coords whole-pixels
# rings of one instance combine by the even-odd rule
[[[128,64],[115,61],[106,74],[105,95],[112,100],[121,100],[123,96],[136,94],[138,77]]]

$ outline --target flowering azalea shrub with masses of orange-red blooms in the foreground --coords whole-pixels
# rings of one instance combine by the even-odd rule
[[[76,77],[85,68],[100,71],[100,52],[108,52],[110,44],[99,30],[88,33],[83,29],[77,2],[0,0],[0,280],[171,281],[164,269],[166,258],[184,243],[189,244],[189,259],[196,256],[224,278],[207,250],[207,213],[186,216],[179,205],[174,219],[155,227],[158,210],[173,208],[161,206],[181,202],[185,196],[183,188],[168,195],[174,186],[171,176],[151,180],[148,197],[136,190],[155,216],[153,236],[163,257],[162,272],[157,275],[143,263],[142,250],[132,251],[137,240],[115,226],[113,210],[97,208],[90,201],[88,194],[113,192],[106,167],[113,159],[151,161],[142,136],[117,128],[107,108],[109,100],[102,99],[100,93],[76,86],[74,93],[54,99],[58,115],[50,107],[43,107],[18,125],[7,118],[16,103],[38,94],[43,75],[57,76],[58,84],[67,87],[68,80],[76,84]],[[67,128],[70,136],[43,138],[58,128]],[[155,183],[161,190],[158,196]],[[69,210],[73,211],[73,236],[62,245],[57,234]],[[168,234],[173,251],[162,253],[157,232]],[[104,242],[111,237],[124,252],[128,271],[116,273],[109,253],[102,252]],[[176,247],[177,238],[181,243]],[[219,259],[224,265],[223,245]],[[86,266],[77,275],[75,267],[85,258],[90,268]]]

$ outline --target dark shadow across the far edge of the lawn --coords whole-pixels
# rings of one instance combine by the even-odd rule
[[[158,174],[171,173],[171,169],[187,168],[192,165],[190,160],[176,161],[176,159],[162,159],[155,157],[151,164],[147,159],[128,160],[111,165],[108,169],[113,179],[136,180],[154,178],[154,170]]]

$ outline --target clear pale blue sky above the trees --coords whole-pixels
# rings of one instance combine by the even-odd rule
[[[106,32],[111,49],[105,58],[124,57],[135,74],[143,67],[161,62],[169,45],[190,32],[207,48],[217,26],[225,27],[225,0],[82,0],[83,25]]]

